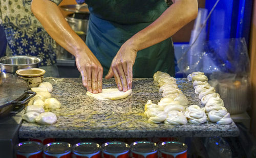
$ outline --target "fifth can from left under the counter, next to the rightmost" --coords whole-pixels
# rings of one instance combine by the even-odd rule
[[[157,158],[158,146],[150,141],[137,141],[130,145],[133,158]]]

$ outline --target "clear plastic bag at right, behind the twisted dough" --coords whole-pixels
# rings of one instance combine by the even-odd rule
[[[250,62],[244,38],[196,43],[179,63],[183,76],[204,72],[231,115],[250,107]]]

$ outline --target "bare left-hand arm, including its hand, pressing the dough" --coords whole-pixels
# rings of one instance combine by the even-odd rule
[[[86,43],[69,26],[58,6],[49,0],[33,0],[31,11],[49,35],[75,56],[77,69],[87,90],[100,93],[103,68]]]

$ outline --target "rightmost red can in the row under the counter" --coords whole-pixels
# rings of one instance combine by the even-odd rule
[[[167,141],[159,144],[159,158],[186,158],[187,145],[181,142]]]

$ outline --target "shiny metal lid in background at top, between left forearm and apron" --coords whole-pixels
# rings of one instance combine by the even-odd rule
[[[90,13],[87,4],[82,5],[64,5],[60,6],[62,10],[73,12],[73,13]]]

